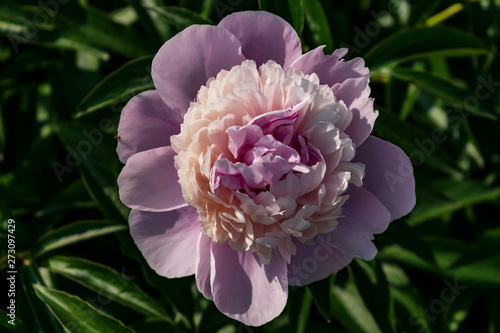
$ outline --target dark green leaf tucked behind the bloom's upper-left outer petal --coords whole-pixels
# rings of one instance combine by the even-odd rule
[[[120,111],[130,98],[145,90],[154,89],[151,78],[152,60],[153,56],[134,59],[106,76],[83,99],[75,117],[80,118],[109,106],[113,112]]]

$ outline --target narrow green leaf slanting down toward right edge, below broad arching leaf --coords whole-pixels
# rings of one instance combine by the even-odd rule
[[[488,107],[475,97],[474,93],[434,73],[410,68],[393,68],[389,71],[389,74],[397,79],[412,82],[422,88],[422,90],[441,98],[444,102],[466,109],[473,115],[491,120],[496,119],[496,117],[490,113]],[[468,106],[466,103],[469,98],[475,99],[477,106]]]

